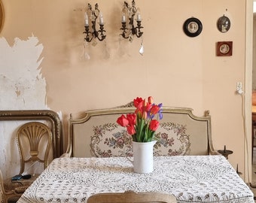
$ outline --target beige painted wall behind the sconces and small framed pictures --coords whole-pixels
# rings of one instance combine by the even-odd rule
[[[137,0],[144,26],[143,56],[139,54],[141,39],[120,41],[123,1],[90,1],[99,4],[107,31],[106,41],[88,47],[90,60],[81,58],[88,2],[2,2],[5,25],[0,37],[12,46],[14,38],[26,40],[34,35],[44,46],[40,67],[47,83],[46,103],[51,110],[62,112],[65,131],[70,113],[111,108],[136,96],[152,95],[157,103],[193,108],[198,116],[209,110],[215,149],[225,144],[233,150],[229,161],[234,168],[239,164],[245,174],[242,97],[235,92],[236,82],[245,83],[244,1]],[[231,21],[227,33],[216,27],[223,14]],[[189,17],[203,23],[203,32],[196,38],[182,30]],[[215,56],[217,41],[233,41],[233,56]]]

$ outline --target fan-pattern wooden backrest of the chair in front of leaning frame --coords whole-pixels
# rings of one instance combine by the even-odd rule
[[[48,155],[52,148],[52,133],[44,123],[29,122],[17,131],[17,145],[20,152],[20,174],[24,172],[26,162],[48,164]]]

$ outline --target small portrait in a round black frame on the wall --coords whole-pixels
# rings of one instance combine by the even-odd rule
[[[183,30],[187,36],[194,38],[200,35],[203,30],[203,25],[199,19],[190,17],[184,22]]]

